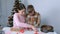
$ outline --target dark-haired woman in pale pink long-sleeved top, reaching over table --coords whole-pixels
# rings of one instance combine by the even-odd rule
[[[34,26],[25,23],[25,10],[26,8],[22,3],[14,8],[16,13],[13,15],[13,28],[32,28],[36,31]]]

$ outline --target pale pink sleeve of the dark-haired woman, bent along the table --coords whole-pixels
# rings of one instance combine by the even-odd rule
[[[14,14],[14,17],[13,17],[13,20],[14,20],[14,24],[17,25],[18,27],[30,27],[31,25],[27,24],[27,23],[23,23],[19,20],[18,18],[18,15],[17,14]]]

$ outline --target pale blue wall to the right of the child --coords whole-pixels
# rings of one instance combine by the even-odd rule
[[[28,4],[41,14],[41,25],[52,25],[60,34],[60,0],[28,0]]]

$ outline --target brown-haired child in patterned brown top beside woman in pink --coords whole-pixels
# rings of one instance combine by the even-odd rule
[[[27,23],[29,23],[35,27],[39,27],[40,14],[35,12],[34,7],[32,5],[28,5],[27,10],[28,10]]]

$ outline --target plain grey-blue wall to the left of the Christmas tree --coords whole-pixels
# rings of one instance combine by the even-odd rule
[[[7,26],[8,23],[8,16],[11,14],[11,10],[13,8],[13,1],[14,0],[0,0],[1,2],[1,21],[0,24],[2,26]]]

